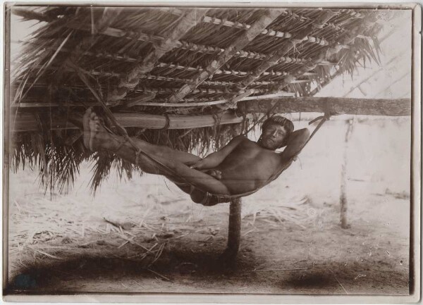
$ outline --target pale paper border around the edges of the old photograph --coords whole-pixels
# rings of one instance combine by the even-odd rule
[[[43,6],[43,5],[71,5],[84,6],[90,5],[86,2],[5,2],[4,3],[4,102],[3,102],[3,297],[4,301],[25,301],[25,302],[148,302],[148,303],[404,303],[417,302],[421,297],[421,140],[422,140],[422,108],[421,108],[421,84],[422,84],[422,7],[419,4],[378,4],[378,3],[262,3],[262,2],[94,2],[93,6],[177,6],[177,7],[272,7],[272,8],[392,8],[392,9],[410,9],[412,10],[412,115],[411,115],[411,189],[410,189],[410,295],[408,296],[387,296],[387,295],[295,295],[295,294],[181,294],[181,293],[90,293],[79,295],[25,295],[25,294],[7,294],[8,285],[8,189],[9,189],[9,104],[6,102],[10,98],[10,42],[11,42],[11,13],[8,8],[11,6]]]

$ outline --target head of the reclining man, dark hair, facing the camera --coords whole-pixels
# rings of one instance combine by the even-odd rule
[[[278,149],[286,146],[288,137],[294,130],[294,124],[283,116],[272,116],[264,121],[259,144],[266,149]]]

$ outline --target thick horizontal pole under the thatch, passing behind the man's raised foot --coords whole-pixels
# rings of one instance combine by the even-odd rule
[[[114,113],[119,124],[123,127],[140,127],[147,129],[162,129],[166,127],[166,116],[157,116],[145,113]],[[250,116],[247,116],[250,117]],[[168,129],[188,129],[210,127],[216,124],[212,115],[204,116],[168,116]],[[235,116],[231,113],[223,113],[219,117],[219,125],[241,123],[242,116]],[[37,119],[30,113],[20,113],[11,118],[12,132],[25,132],[39,130]],[[78,127],[70,123],[65,118],[54,116],[51,118],[51,129],[77,129]]]

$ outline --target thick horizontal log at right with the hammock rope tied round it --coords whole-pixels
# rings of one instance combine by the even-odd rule
[[[275,108],[274,108],[275,107]],[[410,99],[350,99],[338,97],[281,97],[238,103],[243,113],[324,112],[333,115],[410,116]]]

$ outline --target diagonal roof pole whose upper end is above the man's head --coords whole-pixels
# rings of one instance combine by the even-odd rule
[[[169,102],[174,103],[187,96],[190,92],[192,92],[193,89],[204,82],[204,80],[206,80],[208,77],[213,75],[216,70],[219,70],[219,68],[221,68],[221,66],[223,66],[227,61],[229,61],[229,59],[231,59],[238,50],[242,50],[252,41],[252,39],[255,39],[255,37],[257,37],[260,32],[265,30],[267,25],[275,20],[278,15],[281,15],[283,11],[285,11],[285,9],[267,10],[266,13],[262,15],[262,17],[260,17],[257,21],[255,21],[255,23],[253,23],[248,30],[245,30],[242,35],[237,37],[231,46],[228,46],[228,48],[226,48],[225,51],[223,51],[223,53],[218,56],[218,58],[212,61],[212,63],[210,63],[209,66],[204,69],[204,71],[198,73],[192,83],[183,85],[179,92],[169,97]]]

